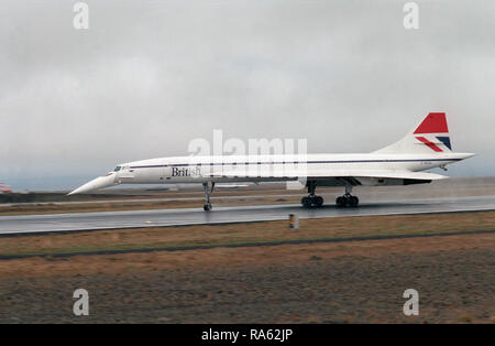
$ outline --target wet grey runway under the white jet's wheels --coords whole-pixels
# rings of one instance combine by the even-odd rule
[[[133,227],[179,226],[288,219],[289,214],[300,218],[339,216],[398,215],[495,210],[495,196],[431,198],[413,201],[381,201],[363,203],[358,208],[337,208],[333,205],[305,209],[299,205],[266,205],[218,207],[209,213],[201,208],[163,210],[132,210],[77,213],[53,215],[1,216],[0,235],[94,230]]]

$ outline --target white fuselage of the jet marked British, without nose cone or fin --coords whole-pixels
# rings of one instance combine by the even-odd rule
[[[470,154],[308,154],[256,156],[174,156],[120,164],[116,184],[263,182],[295,180],[294,166],[306,177],[338,176],[340,172],[418,172],[463,160]],[[258,172],[256,174],[253,172]],[[235,174],[237,173],[237,174]],[[323,174],[322,174],[323,173]]]

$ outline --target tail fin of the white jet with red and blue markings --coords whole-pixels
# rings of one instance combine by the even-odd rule
[[[449,128],[444,112],[430,112],[416,128],[397,142],[374,153],[444,153],[451,152]]]

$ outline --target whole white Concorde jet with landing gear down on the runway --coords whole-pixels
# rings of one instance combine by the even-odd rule
[[[342,186],[336,199],[339,207],[356,207],[351,195],[359,185],[409,185],[430,183],[447,176],[420,172],[446,166],[473,156],[452,151],[444,112],[430,112],[420,125],[399,141],[371,153],[202,155],[174,156],[119,164],[112,172],[70,192],[87,193],[118,184],[201,183],[206,212],[216,183],[304,182],[308,196],[304,207],[320,207],[323,198],[317,186]]]

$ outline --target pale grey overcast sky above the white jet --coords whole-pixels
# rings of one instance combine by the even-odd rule
[[[213,129],[369,152],[429,111],[479,154],[451,175],[495,175],[494,1],[416,1],[419,30],[406,1],[86,2],[86,31],[76,1],[0,2],[0,182],[77,185]]]

